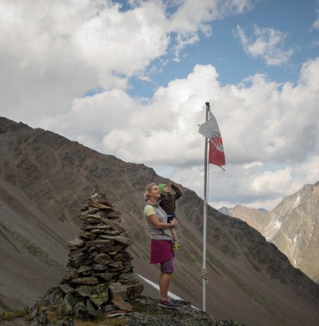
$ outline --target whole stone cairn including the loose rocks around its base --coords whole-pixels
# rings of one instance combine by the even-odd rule
[[[82,208],[79,236],[67,244],[69,262],[62,282],[30,309],[35,325],[45,317],[39,315],[40,306],[57,308],[60,320],[72,316],[88,320],[98,311],[131,310],[126,301],[138,298],[143,286],[133,273],[128,251],[132,242],[120,226],[120,215],[105,193],[91,195]]]

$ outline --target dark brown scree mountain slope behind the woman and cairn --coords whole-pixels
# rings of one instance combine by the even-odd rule
[[[157,283],[142,215],[145,185],[152,181],[169,182],[143,164],[0,118],[1,310],[32,304],[62,279],[66,242],[79,233],[79,209],[91,191],[106,193],[122,212],[134,242],[134,270]],[[181,190],[181,249],[170,290],[201,308],[203,201]],[[259,232],[208,207],[207,239],[206,303],[213,317],[245,325],[315,325],[318,284]]]

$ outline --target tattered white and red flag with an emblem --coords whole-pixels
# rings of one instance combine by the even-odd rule
[[[199,126],[198,132],[209,140],[208,162],[218,165],[218,167],[225,165],[223,140],[220,135],[217,120],[211,112],[206,123]]]

